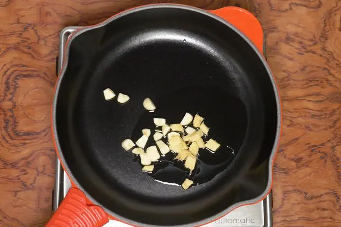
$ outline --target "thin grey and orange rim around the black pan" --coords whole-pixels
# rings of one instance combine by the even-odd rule
[[[70,171],[68,165],[66,164],[65,158],[63,153],[61,152],[61,146],[58,140],[58,133],[56,130],[56,104],[57,104],[57,100],[58,100],[58,93],[59,93],[59,89],[60,89],[60,85],[61,82],[63,80],[63,76],[65,75],[66,71],[67,71],[67,65],[68,65],[68,56],[69,56],[69,50],[70,50],[70,46],[72,41],[79,35],[81,35],[82,33],[92,30],[92,29],[96,29],[102,26],[105,26],[106,24],[131,13],[134,12],[139,12],[139,11],[143,11],[143,10],[148,10],[148,9],[155,9],[155,8],[173,8],[173,9],[183,9],[183,10],[189,10],[189,11],[193,11],[193,12],[197,12],[197,13],[201,13],[204,14],[206,16],[209,16],[213,19],[218,20],[219,22],[225,24],[226,26],[229,26],[231,29],[233,29],[241,38],[243,38],[250,46],[251,48],[255,51],[255,53],[258,54],[259,58],[261,58],[261,61],[266,69],[266,71],[268,72],[272,87],[273,87],[273,92],[274,92],[274,96],[275,96],[275,101],[276,101],[276,109],[277,109],[277,126],[276,126],[276,135],[275,135],[275,140],[274,140],[274,145],[273,148],[271,150],[271,154],[269,157],[269,173],[268,173],[268,183],[266,186],[266,189],[263,191],[262,194],[260,194],[258,197],[253,198],[251,200],[247,200],[247,201],[243,201],[243,202],[239,202],[236,203],[226,209],[224,209],[223,211],[212,215],[211,217],[205,218],[203,220],[200,221],[196,221],[196,222],[192,222],[192,223],[187,223],[187,224],[182,224],[182,225],[169,225],[169,226],[197,226],[197,225],[204,225],[210,222],[213,222],[216,219],[219,219],[220,217],[226,215],[227,213],[231,212],[232,210],[244,206],[244,205],[250,205],[250,204],[255,204],[258,203],[260,201],[262,201],[270,192],[271,187],[272,187],[272,182],[273,182],[273,176],[272,176],[272,172],[273,172],[273,163],[274,163],[274,158],[276,155],[276,152],[278,150],[278,145],[279,145],[279,139],[280,139],[280,134],[281,134],[281,124],[282,124],[282,113],[281,113],[281,104],[280,104],[280,96],[279,96],[279,90],[278,87],[276,85],[275,82],[275,78],[273,76],[273,74],[271,73],[271,70],[268,66],[268,63],[266,62],[265,58],[263,57],[262,53],[259,51],[259,49],[252,43],[252,41],[249,40],[248,37],[246,37],[238,28],[236,28],[233,24],[229,23],[228,21],[220,18],[219,16],[216,16],[206,10],[203,9],[199,9],[199,8],[195,8],[195,7],[191,7],[191,6],[185,6],[185,5],[177,5],[177,4],[152,4],[152,5],[145,5],[145,6],[140,6],[140,7],[136,7],[136,8],[132,8],[132,9],[128,9],[126,11],[123,11],[121,13],[118,13],[116,15],[113,15],[112,17],[108,18],[107,20],[96,24],[96,25],[90,25],[90,26],[86,26],[86,27],[82,27],[78,30],[76,30],[71,37],[68,39],[67,43],[66,43],[66,47],[65,47],[65,58],[64,58],[64,63],[63,63],[63,67],[62,67],[62,71],[58,77],[58,80],[56,81],[55,84],[55,89],[54,89],[54,96],[53,96],[53,103],[52,103],[52,136],[54,138],[54,144],[55,144],[55,148],[56,148],[56,152],[58,153],[58,156],[61,160],[62,166],[64,168],[64,170],[66,171],[66,173],[68,174],[68,176],[71,178],[72,182],[77,186],[78,189],[80,189],[81,191],[83,191],[86,194],[87,199],[89,199],[92,203],[94,203],[95,205],[99,205],[100,207],[102,207],[106,213],[108,213],[109,215],[112,215],[115,218],[118,218],[118,220],[123,221],[125,223],[128,224],[132,224],[132,225],[138,225],[138,226],[159,226],[159,225],[151,225],[151,224],[146,224],[146,223],[141,223],[138,221],[133,221],[129,218],[126,218],[124,216],[118,215],[115,212],[112,212],[111,210],[103,207],[103,205],[101,203],[99,203],[98,201],[96,201],[92,196],[90,196],[90,194],[87,193],[86,190],[84,190],[84,188],[81,187],[81,185],[78,183],[78,181],[76,180],[76,178],[74,178],[72,172]],[[164,225],[167,226],[167,225]]]

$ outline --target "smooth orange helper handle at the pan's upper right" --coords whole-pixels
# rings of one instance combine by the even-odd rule
[[[237,27],[264,54],[264,34],[260,22],[247,10],[228,6],[209,11]]]

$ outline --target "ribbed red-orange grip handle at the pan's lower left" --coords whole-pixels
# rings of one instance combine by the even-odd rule
[[[70,188],[46,227],[101,227],[108,221],[101,207],[87,205],[86,195],[77,188]]]

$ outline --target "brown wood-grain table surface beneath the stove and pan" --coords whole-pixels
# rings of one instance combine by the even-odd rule
[[[0,0],[0,226],[44,226],[52,215],[61,29],[156,2],[240,4],[257,15],[283,105],[274,226],[341,226],[340,0]]]

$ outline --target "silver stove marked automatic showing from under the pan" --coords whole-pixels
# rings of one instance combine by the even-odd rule
[[[56,62],[56,74],[62,68],[62,60],[64,57],[64,47],[68,37],[80,27],[72,26],[66,27],[61,31],[59,42],[59,60]],[[64,199],[66,193],[71,187],[71,182],[65,174],[60,160],[56,158],[55,165],[55,187],[53,191],[52,209],[58,209],[58,206]],[[110,220],[104,227],[127,227],[128,224]],[[215,222],[204,225],[205,227],[272,227],[272,194],[270,193],[263,201],[239,207]]]

